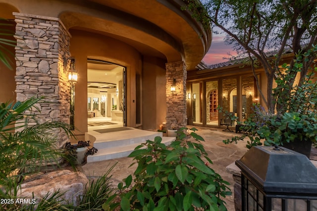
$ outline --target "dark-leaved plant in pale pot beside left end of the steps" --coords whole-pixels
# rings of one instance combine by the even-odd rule
[[[83,164],[87,155],[94,155],[98,152],[95,147],[90,147],[90,141],[78,141],[77,144],[66,142],[65,149],[76,152],[77,164]]]

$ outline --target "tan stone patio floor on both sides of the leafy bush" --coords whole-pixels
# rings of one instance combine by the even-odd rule
[[[191,128],[192,126],[188,126]],[[205,142],[202,144],[207,151],[209,158],[213,162],[211,168],[215,170],[216,173],[220,174],[221,177],[230,182],[230,189],[233,192],[233,179],[232,175],[226,172],[226,167],[231,163],[239,160],[246,152],[245,147],[246,141],[239,141],[238,144],[224,144],[222,140],[231,138],[237,135],[234,132],[223,132],[223,128],[211,128],[211,127],[198,127],[196,131],[197,134],[201,135]],[[103,175],[106,170],[114,165],[116,166],[111,171],[113,184],[121,182],[123,178],[127,177],[129,174],[133,174],[136,169],[136,165],[129,167],[133,163],[132,158],[119,158],[107,161],[87,163],[82,167],[82,170],[87,175],[87,177],[98,177]],[[228,196],[224,199],[227,203],[226,208],[228,211],[234,211],[233,195]]]

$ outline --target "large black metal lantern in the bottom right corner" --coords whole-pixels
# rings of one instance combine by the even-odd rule
[[[317,211],[317,169],[284,147],[252,147],[241,169],[242,211]]]

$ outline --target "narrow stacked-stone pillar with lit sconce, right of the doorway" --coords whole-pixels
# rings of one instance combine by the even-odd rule
[[[166,63],[166,127],[171,129],[172,124],[177,128],[187,126],[186,116],[186,64],[183,61]],[[176,80],[176,91],[172,95],[170,86]]]

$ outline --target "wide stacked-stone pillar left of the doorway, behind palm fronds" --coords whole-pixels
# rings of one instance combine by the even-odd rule
[[[69,123],[70,85],[67,59],[70,34],[58,18],[13,13],[16,22],[16,100],[45,96],[47,102],[34,111],[38,122]],[[34,124],[34,123],[29,123]],[[67,140],[57,130],[59,146]],[[58,145],[58,144],[57,144]]]

